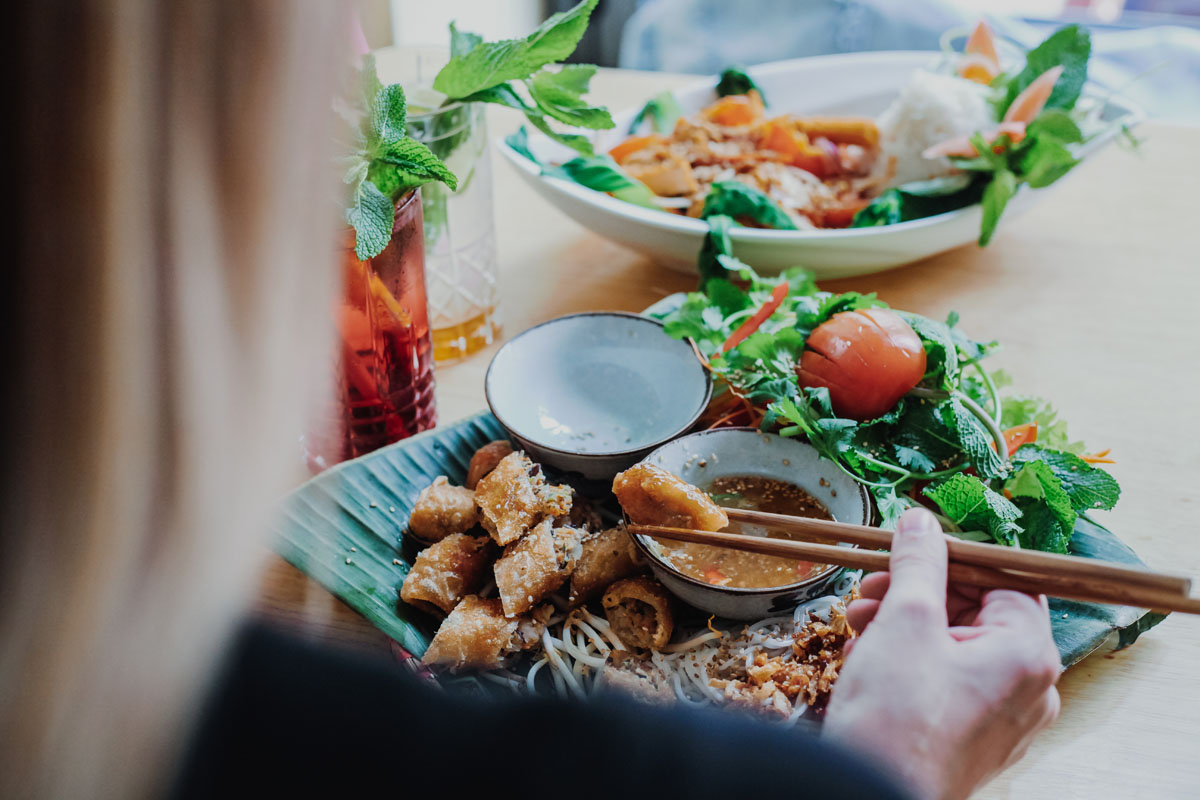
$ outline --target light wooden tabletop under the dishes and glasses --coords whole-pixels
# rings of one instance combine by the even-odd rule
[[[379,56],[388,78],[389,54]],[[689,76],[601,70],[592,96],[623,109]],[[493,137],[515,112],[492,107]],[[1145,125],[1140,152],[1109,148],[1042,204],[1001,224],[986,249],[967,246],[845,281],[935,318],[954,309],[1019,391],[1054,399],[1073,438],[1111,447],[1123,495],[1102,522],[1153,567],[1200,576],[1200,130]],[[500,309],[511,336],[578,311],[641,311],[695,279],[656,266],[568,219],[493,155]],[[498,345],[497,345],[498,347]],[[496,347],[439,367],[444,422],[485,408]],[[276,557],[258,612],[310,636],[388,646],[323,588]],[[980,798],[1200,795],[1200,618],[1174,615],[1134,646],[1096,655],[1060,681],[1063,708],[1016,766]]]

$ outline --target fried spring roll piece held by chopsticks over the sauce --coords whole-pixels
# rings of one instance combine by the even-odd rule
[[[634,464],[613,479],[612,491],[640,525],[721,530],[730,524],[710,497],[655,464]]]

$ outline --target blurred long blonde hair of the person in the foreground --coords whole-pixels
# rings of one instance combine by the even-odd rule
[[[0,796],[146,796],[331,369],[346,7],[17,5]]]

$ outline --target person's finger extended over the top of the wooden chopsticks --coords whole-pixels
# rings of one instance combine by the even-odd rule
[[[937,518],[924,509],[905,511],[892,537],[888,589],[877,619],[906,628],[944,628],[946,570],[946,537]]]

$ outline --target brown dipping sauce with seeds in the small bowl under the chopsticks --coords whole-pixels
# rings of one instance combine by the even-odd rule
[[[706,491],[718,505],[726,509],[748,509],[751,511],[769,511],[786,513],[793,517],[815,517],[833,519],[829,510],[815,497],[787,481],[776,481],[757,475],[727,476],[713,481]],[[790,534],[767,530],[761,525],[730,523],[724,529],[732,534],[745,536],[767,536],[769,539],[793,539]],[[744,553],[712,545],[692,542],[672,542],[655,540],[662,559],[679,572],[719,587],[737,587],[740,589],[770,589],[786,587],[815,576],[824,570],[823,564],[796,561]]]

